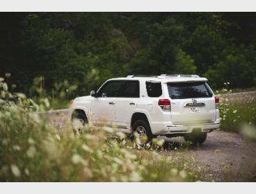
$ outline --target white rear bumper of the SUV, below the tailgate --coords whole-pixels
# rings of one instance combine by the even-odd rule
[[[156,135],[191,133],[195,129],[200,129],[202,132],[211,132],[212,130],[217,130],[219,127],[220,122],[190,125],[173,125],[165,123],[164,126],[162,125],[161,130],[152,130],[152,132]]]

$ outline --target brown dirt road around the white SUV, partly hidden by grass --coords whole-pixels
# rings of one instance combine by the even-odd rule
[[[225,97],[231,99],[242,96],[256,96],[256,91],[228,94]],[[67,109],[59,111],[63,116],[56,115],[56,111],[49,112],[57,125],[61,125],[67,114]],[[182,148],[182,137],[166,139],[166,155],[173,155],[175,147],[185,158],[194,157],[199,166],[205,169],[206,181],[231,181],[243,182],[246,177],[256,181],[256,143],[243,140],[241,134],[216,130],[207,136],[205,143],[198,147]]]

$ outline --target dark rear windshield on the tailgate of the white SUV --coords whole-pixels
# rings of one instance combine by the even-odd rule
[[[172,99],[207,98],[212,93],[205,82],[168,83],[169,96]]]

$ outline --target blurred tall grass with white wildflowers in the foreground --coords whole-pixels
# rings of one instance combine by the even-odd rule
[[[201,168],[163,153],[162,141],[140,147],[106,127],[74,134],[68,121],[56,130],[40,111],[49,109],[24,94],[11,94],[0,78],[1,182],[194,182]],[[74,123],[75,124],[75,123]],[[74,126],[76,127],[76,126]],[[139,149],[138,149],[139,148]],[[147,152],[145,152],[147,149]],[[149,154],[150,153],[150,154]]]

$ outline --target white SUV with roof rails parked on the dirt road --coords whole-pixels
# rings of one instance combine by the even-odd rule
[[[218,98],[207,78],[196,75],[127,76],[104,82],[90,96],[75,98],[70,119],[115,126],[126,133],[184,136],[203,143],[220,127]]]

